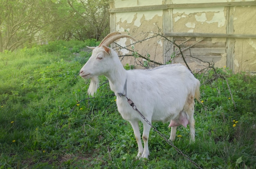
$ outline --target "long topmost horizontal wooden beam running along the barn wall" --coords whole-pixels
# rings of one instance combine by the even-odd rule
[[[124,7],[124,8],[112,8],[109,9],[109,13],[118,12],[137,12],[137,11],[154,11],[165,10],[174,8],[206,8],[206,7],[234,7],[234,6],[253,6],[256,5],[256,1],[249,2],[215,2],[215,3],[195,3],[195,4],[162,4],[162,5],[148,5],[141,7]]]

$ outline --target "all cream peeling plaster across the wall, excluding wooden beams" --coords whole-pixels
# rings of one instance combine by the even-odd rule
[[[112,0],[112,8],[144,7],[161,4],[191,4],[191,3],[213,3],[213,2],[252,2],[254,0]],[[232,15],[232,18],[230,18]],[[151,10],[136,12],[117,12],[114,15],[115,26],[112,31],[126,33],[135,37],[137,41],[144,40],[154,33],[171,31],[177,33],[234,33],[256,35],[256,6],[236,7],[200,7],[200,8],[174,8],[168,10]],[[169,18],[166,19],[166,16]],[[166,21],[170,28],[166,29]],[[231,23],[231,24],[230,24]],[[184,44],[184,48],[200,40],[201,37],[174,37],[176,42]],[[231,42],[228,42],[231,40]],[[234,42],[234,43],[233,43]],[[131,41],[121,39],[117,41],[121,46],[130,45]],[[163,40],[152,38],[134,46],[134,50],[141,55],[150,54],[150,59],[164,63],[166,44]],[[167,46],[168,48],[169,46]],[[256,73],[256,38],[220,38],[212,37],[204,39],[200,43],[191,46],[195,50],[195,57],[214,61],[216,67],[225,67],[232,62],[233,72],[255,72]],[[221,52],[212,53],[212,49],[220,49]],[[232,48],[232,53],[228,48]],[[174,51],[175,49],[173,49]],[[210,52],[209,52],[209,51]],[[198,52],[199,51],[199,52]],[[202,51],[205,55],[202,55]],[[129,55],[128,50],[121,49],[119,55]],[[229,55],[229,57],[227,56]],[[231,57],[231,59],[230,59]],[[187,57],[192,68],[197,69],[202,65],[200,61]],[[182,62],[182,59],[174,60],[174,63]],[[122,58],[123,64],[135,64],[134,57]],[[137,63],[137,62],[136,62]],[[136,65],[136,64],[135,64]]]

